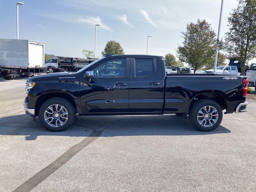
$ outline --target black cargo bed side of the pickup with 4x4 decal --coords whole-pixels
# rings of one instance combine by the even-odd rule
[[[190,78],[186,78],[190,76]],[[166,74],[166,113],[186,113],[193,100],[218,98],[225,101],[227,113],[234,112],[239,102],[244,102],[242,79],[246,76],[219,74]],[[174,86],[175,85],[175,86]]]

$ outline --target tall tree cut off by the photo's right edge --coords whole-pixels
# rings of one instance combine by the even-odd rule
[[[224,46],[229,57],[241,61],[244,75],[246,61],[256,57],[256,0],[238,2],[238,7],[228,17],[229,32],[226,32]]]

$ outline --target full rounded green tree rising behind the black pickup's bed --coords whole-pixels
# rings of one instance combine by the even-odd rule
[[[184,41],[178,46],[178,58],[196,70],[205,66],[214,56],[216,34],[206,20],[197,20],[187,24],[186,32],[182,32]]]

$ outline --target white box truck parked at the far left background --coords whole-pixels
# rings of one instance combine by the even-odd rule
[[[44,43],[0,39],[0,75],[11,80],[44,72]]]

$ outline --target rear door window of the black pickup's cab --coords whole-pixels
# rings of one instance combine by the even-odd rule
[[[135,58],[135,77],[152,76],[154,71],[153,59]]]

